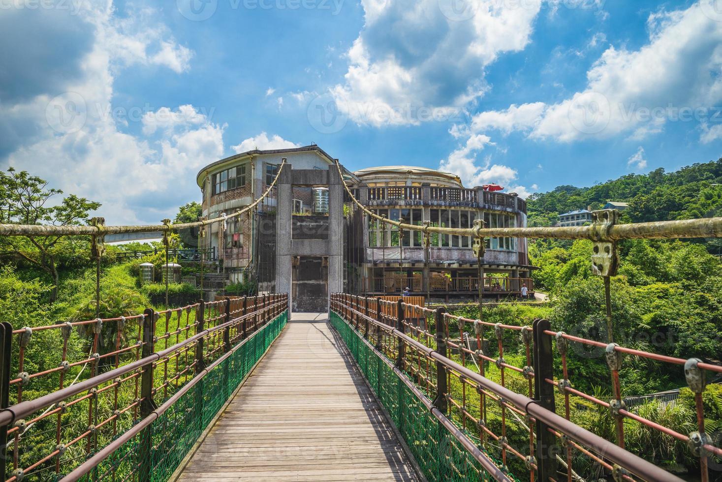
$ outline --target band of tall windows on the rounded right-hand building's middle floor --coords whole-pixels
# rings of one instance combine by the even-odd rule
[[[424,224],[422,209],[373,209],[379,216],[386,216],[392,221],[405,224]],[[466,209],[430,209],[430,225],[437,227],[471,228],[474,220],[481,215],[479,211]],[[483,213],[487,227],[516,227],[516,215]],[[422,247],[423,234],[418,231],[405,230],[401,235],[399,228],[380,222],[368,216],[368,245],[370,247]],[[471,247],[471,237],[461,235],[430,234],[431,247]],[[516,238],[487,237],[484,240],[487,248],[492,250],[516,250]]]

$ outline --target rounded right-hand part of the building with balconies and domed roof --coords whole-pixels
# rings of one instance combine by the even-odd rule
[[[526,227],[526,201],[515,193],[465,188],[449,172],[386,166],[354,174],[357,181],[352,186],[360,202],[394,221],[471,228],[474,220],[484,219],[487,227]],[[479,262],[471,237],[432,234],[427,251],[419,232],[399,232],[375,219],[362,224],[365,292],[399,293],[408,286],[431,297],[477,294]],[[487,294],[518,294],[524,284],[529,291],[534,289],[525,238],[487,238],[482,268]]]

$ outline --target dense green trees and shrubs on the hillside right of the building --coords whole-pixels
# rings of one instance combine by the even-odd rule
[[[659,169],[648,175],[626,175],[591,188],[560,186],[529,198],[529,225],[550,226],[557,222],[560,213],[587,206],[601,209],[607,201],[629,203],[622,222],[717,216],[722,206],[722,185],[716,185],[718,183],[722,184],[722,159],[684,167],[677,172],[665,173]],[[606,341],[604,286],[601,278],[591,272],[592,246],[592,242],[585,240],[530,240],[531,263],[538,267],[532,274],[534,286],[548,294],[549,303],[488,308],[484,310],[484,319],[492,323],[531,325],[535,318],[545,317],[554,330]],[[722,264],[716,255],[720,247],[718,240],[619,242],[621,265],[618,276],[612,278],[614,340],[622,346],[657,354],[719,362],[722,359]],[[459,310],[456,314],[471,319],[479,317],[474,308]],[[505,336],[504,346],[508,362],[512,360],[510,363],[518,367],[526,364],[518,337]],[[489,351],[490,356],[497,356],[496,343],[490,344]],[[598,398],[611,397],[611,375],[603,351],[572,343],[567,359],[569,378],[575,388]],[[557,359],[557,380],[562,378],[560,367]],[[487,369],[487,375],[499,381],[493,364]],[[521,376],[510,371],[506,376],[508,386],[525,389],[526,380]],[[665,407],[652,402],[637,406],[634,411],[683,434],[695,431],[695,402],[686,388],[682,367],[627,356],[620,378],[625,396],[681,388],[676,405]],[[722,387],[715,378],[708,377],[703,400],[707,431],[720,442]],[[557,393],[557,407],[563,407],[563,403]],[[614,440],[608,410],[573,398],[571,418]],[[498,417],[492,416],[489,424],[495,431],[500,430]],[[518,446],[523,446],[526,437],[528,434],[523,428],[510,429],[510,439],[516,439]],[[698,471],[698,462],[686,444],[643,424],[626,420],[625,438],[629,450],[654,463],[679,472]],[[517,471],[524,470],[521,464],[513,465]],[[601,475],[583,456],[575,457],[574,468],[584,476]],[[717,475],[713,473],[713,479]]]

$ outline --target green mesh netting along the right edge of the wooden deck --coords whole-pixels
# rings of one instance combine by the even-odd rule
[[[346,343],[371,390],[386,408],[429,481],[494,480],[396,376],[393,369],[363,341],[356,330],[335,312],[331,312],[331,325]],[[487,456],[501,466],[500,461],[488,452]]]

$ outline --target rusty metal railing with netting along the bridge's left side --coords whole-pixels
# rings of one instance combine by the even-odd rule
[[[200,378],[284,313],[287,304],[287,294],[266,294],[20,330],[4,323],[0,327],[0,357],[7,361],[0,376],[0,398],[5,400],[0,444],[6,447],[0,454],[2,480],[56,479],[71,470],[74,475],[69,480],[77,480],[158,419]],[[130,323],[138,328],[128,333],[137,336],[123,338],[123,325],[128,328]],[[100,338],[111,325],[118,334],[113,343],[103,345]],[[61,361],[57,367],[36,371],[31,367],[47,363],[51,354],[40,351],[42,360],[28,359],[27,351],[32,343],[50,340],[53,331],[61,332]],[[271,341],[266,333],[264,340]],[[90,346],[90,356],[69,359],[69,341]],[[17,377],[11,376],[14,368]],[[68,383],[74,372],[75,380]],[[55,390],[50,388],[53,384]],[[202,409],[203,401],[199,403]],[[150,442],[146,437],[146,445],[116,457],[93,480],[149,480],[149,470],[155,468],[143,465],[139,455],[173,446],[174,433],[156,431]],[[158,457],[156,465],[164,465],[165,459]],[[95,463],[88,465],[88,460]],[[169,468],[165,463],[165,470]]]

